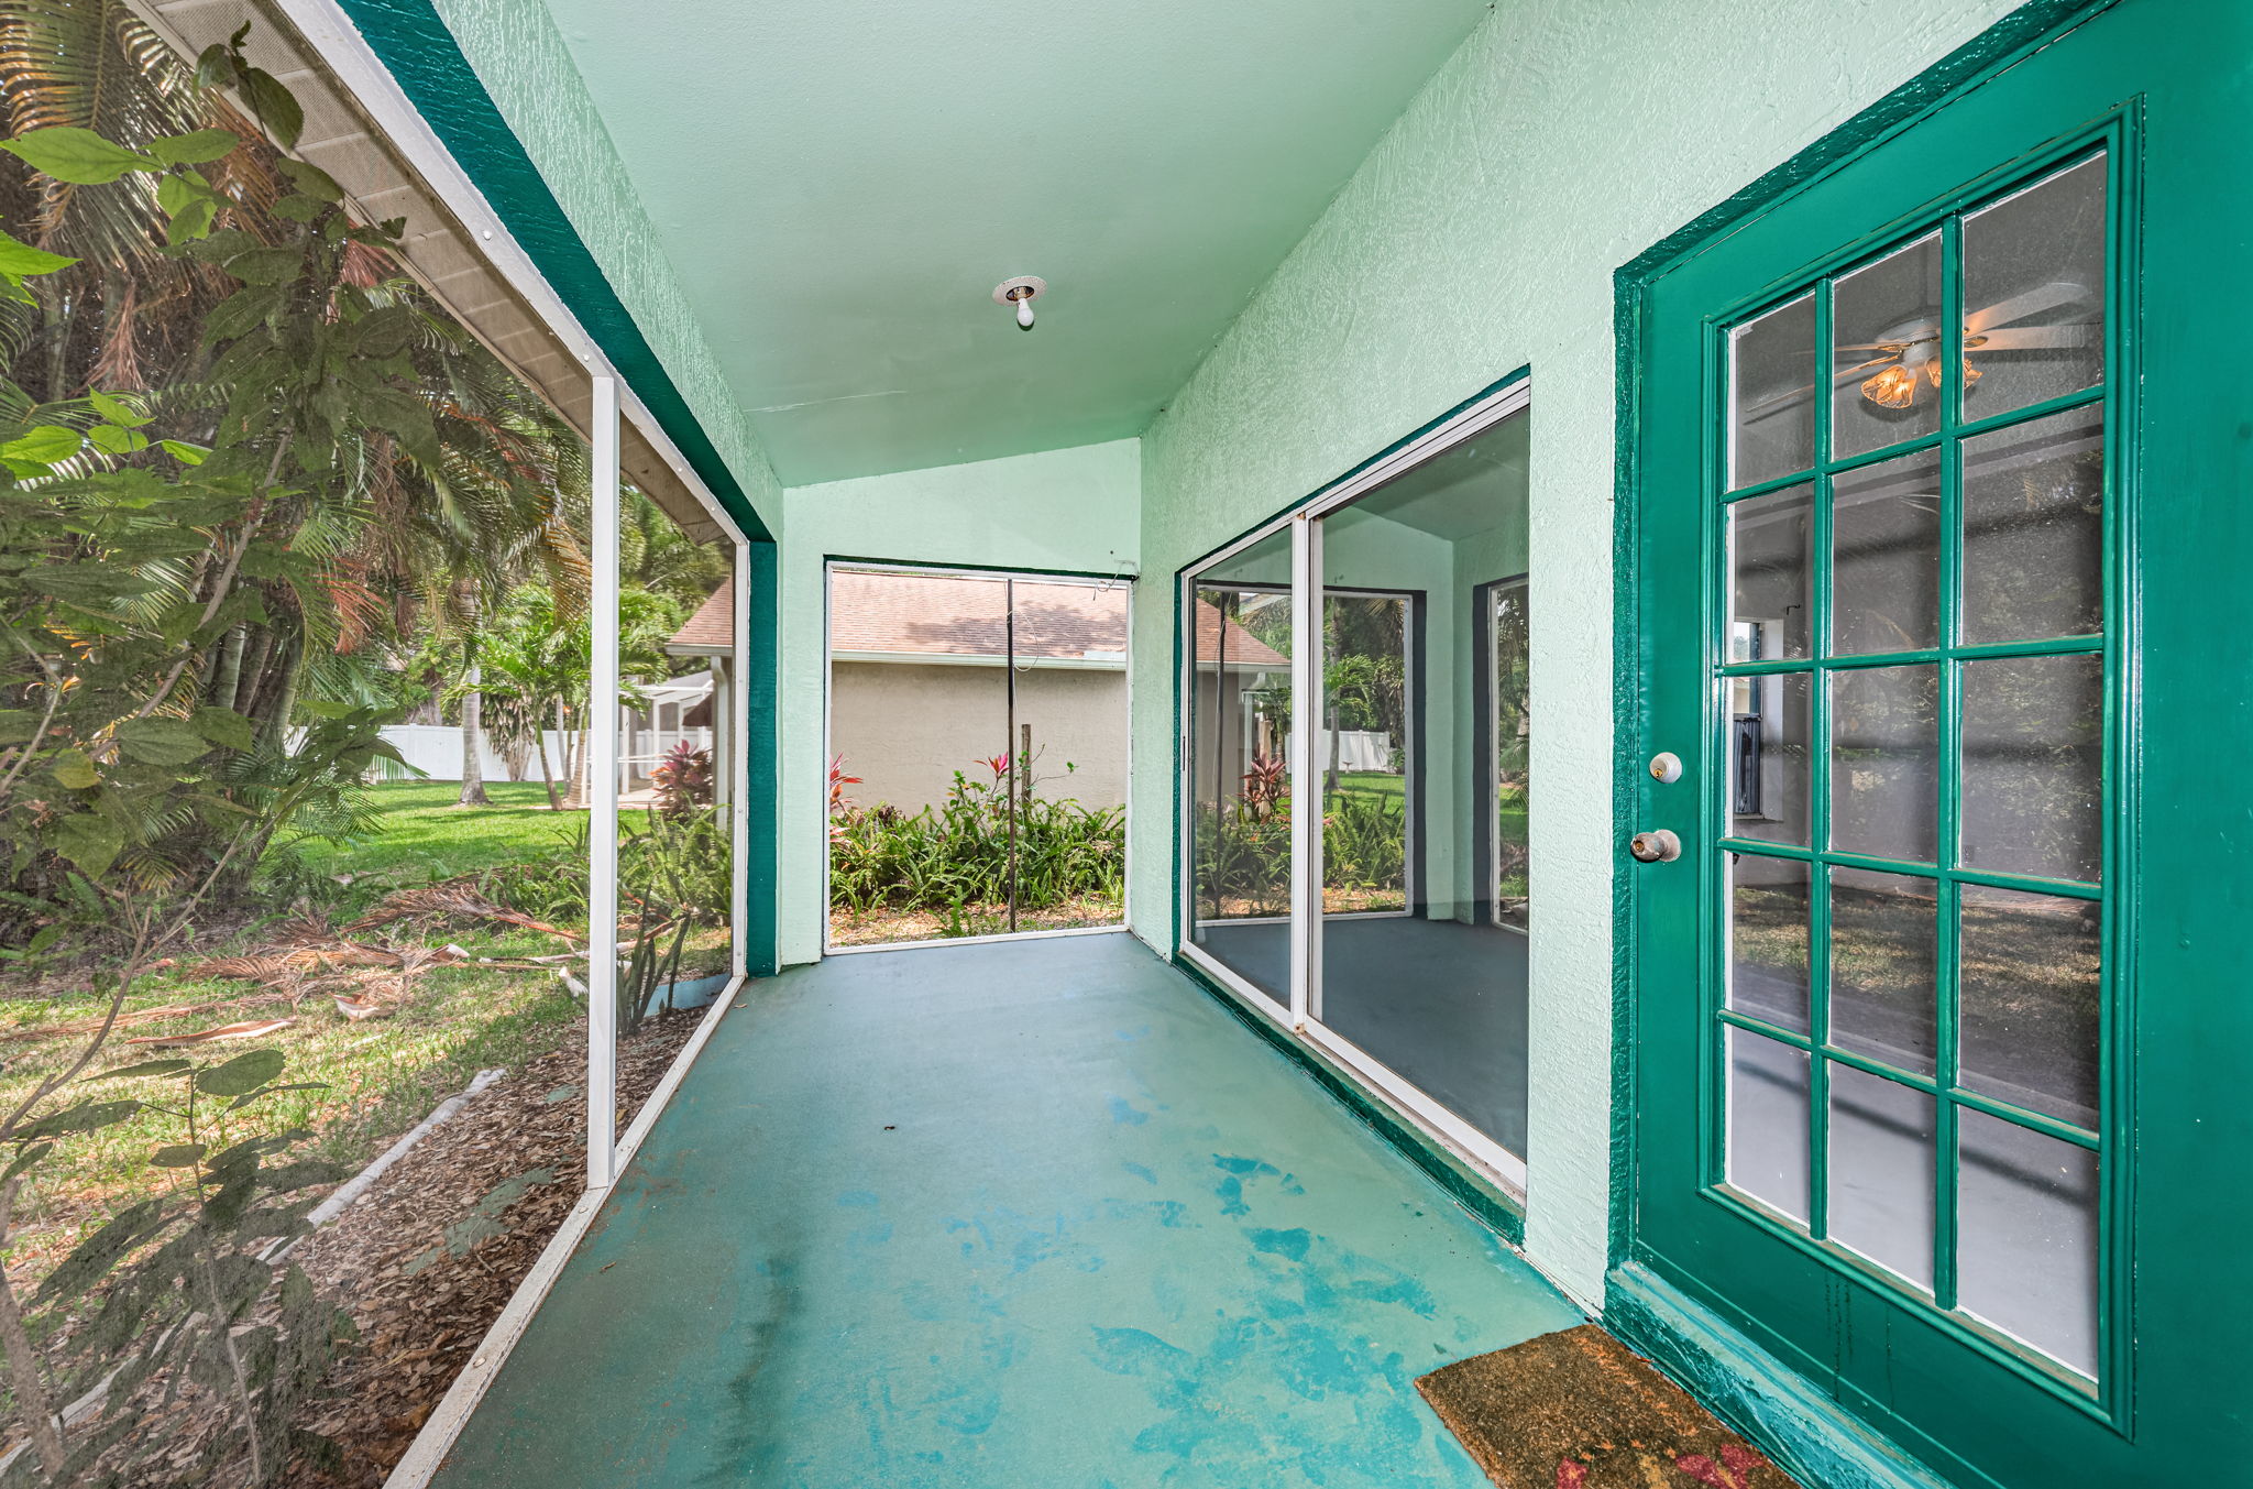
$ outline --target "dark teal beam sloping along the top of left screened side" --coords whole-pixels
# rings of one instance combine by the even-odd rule
[[[430,0],[338,5],[743,536],[773,536]]]

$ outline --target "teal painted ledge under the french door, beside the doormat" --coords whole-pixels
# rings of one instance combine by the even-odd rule
[[[1949,1489],[1931,1469],[1845,1417],[1811,1381],[1642,1266],[1618,1266],[1604,1277],[1604,1327],[1802,1484]]]

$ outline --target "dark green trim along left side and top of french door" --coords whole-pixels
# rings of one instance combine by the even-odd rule
[[[1624,845],[1636,833],[1638,782],[1642,779],[1642,615],[1638,604],[1636,523],[1642,491],[1642,365],[1645,300],[1649,286],[1676,261],[1697,252],[1730,225],[1757,216],[1784,196],[1807,187],[1847,160],[1874,149],[1890,135],[1940,108],[1949,97],[1992,77],[2041,47],[2046,41],[2111,9],[2118,0],[2028,0],[1938,63],[1908,79],[1877,104],[1829,131],[1800,153],[1766,171],[1742,191],[1708,207],[1685,225],[1658,239],[1613,275],[1613,356],[1618,378],[1618,419],[1613,426],[1613,628],[1611,689],[1613,719],[1620,730],[1613,750],[1613,842]],[[1615,849],[1620,870],[1611,892],[1611,1223],[1609,1255],[1613,1277],[1633,1243],[1633,933],[1636,876],[1633,863]]]

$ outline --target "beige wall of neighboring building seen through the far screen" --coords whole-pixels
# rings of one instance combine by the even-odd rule
[[[1007,674],[1000,665],[921,667],[912,662],[834,662],[829,669],[829,750],[858,775],[847,800],[890,802],[906,811],[946,800],[962,770],[994,779],[980,764],[1007,746]],[[1126,671],[1027,667],[1016,674],[1018,728],[1032,725],[1034,791],[1088,806],[1126,802]],[[1072,770],[1066,773],[1066,761]]]

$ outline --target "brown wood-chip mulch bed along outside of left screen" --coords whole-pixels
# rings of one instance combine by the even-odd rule
[[[651,1018],[617,1045],[624,1131],[696,1032],[703,1009]],[[471,1349],[586,1189],[586,1025],[554,1054],[509,1070],[433,1129],[291,1259],[351,1309],[358,1343],[329,1372],[306,1426],[340,1453],[291,1464],[302,1489],[374,1489],[406,1455]],[[146,1408],[146,1401],[137,1401]],[[180,1482],[214,1430],[203,1401],[155,1424],[171,1448],[133,1482]]]

